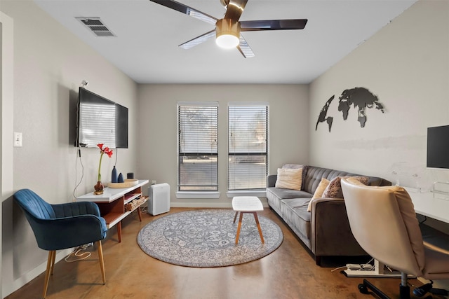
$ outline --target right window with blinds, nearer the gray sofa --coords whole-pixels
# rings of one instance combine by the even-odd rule
[[[228,105],[228,190],[266,187],[268,103]]]

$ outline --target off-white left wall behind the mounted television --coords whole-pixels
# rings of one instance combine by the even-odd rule
[[[14,24],[14,55],[8,57],[13,60],[13,132],[23,135],[23,146],[13,148],[13,189],[30,188],[51,203],[73,200],[82,169],[69,142],[69,122],[83,79],[89,81],[89,90],[128,107],[130,148],[119,151],[117,168],[125,174],[135,171],[137,85],[33,1],[2,0],[0,9]],[[7,133],[11,140],[13,132]],[[84,176],[76,195],[93,190],[100,154],[83,149],[81,158]],[[103,158],[103,177],[109,177],[114,161]],[[2,208],[4,296],[43,272],[47,256],[12,197]]]

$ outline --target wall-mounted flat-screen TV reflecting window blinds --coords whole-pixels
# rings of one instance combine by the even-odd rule
[[[75,146],[128,148],[128,108],[79,88]]]

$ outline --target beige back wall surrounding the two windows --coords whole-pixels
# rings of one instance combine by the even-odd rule
[[[139,166],[145,179],[169,183],[172,207],[230,207],[227,198],[227,103],[269,102],[269,173],[285,163],[307,163],[306,85],[139,85]],[[177,102],[217,101],[219,199],[177,199]]]

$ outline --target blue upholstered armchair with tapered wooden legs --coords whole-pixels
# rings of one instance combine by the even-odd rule
[[[48,280],[53,274],[56,250],[60,249],[97,242],[103,284],[106,283],[101,240],[106,237],[107,227],[105,219],[100,217],[97,204],[94,202],[48,204],[29,189],[16,192],[14,200],[24,211],[39,248],[49,251],[43,298],[46,297]]]

